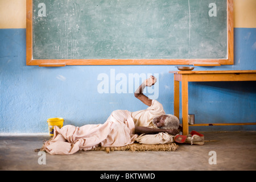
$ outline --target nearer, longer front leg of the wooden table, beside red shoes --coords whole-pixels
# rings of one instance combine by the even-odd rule
[[[182,75],[181,81],[183,135],[188,135],[188,75]]]

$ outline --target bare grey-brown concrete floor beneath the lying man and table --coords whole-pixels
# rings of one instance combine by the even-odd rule
[[[46,164],[38,164],[47,136],[0,137],[0,170],[256,170],[256,132],[203,133],[204,146],[179,144],[176,151],[81,151],[73,155],[46,154]],[[210,151],[217,164],[209,164]]]

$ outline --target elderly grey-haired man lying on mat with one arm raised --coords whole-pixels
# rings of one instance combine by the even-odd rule
[[[181,127],[179,119],[164,112],[162,104],[143,94],[146,86],[152,86],[156,78],[151,76],[135,91],[134,96],[146,104],[147,109],[130,112],[115,110],[104,124],[75,127],[66,125],[54,128],[54,136],[44,144],[49,154],[74,154],[95,146],[119,147],[131,144],[138,134],[168,133],[176,135]]]

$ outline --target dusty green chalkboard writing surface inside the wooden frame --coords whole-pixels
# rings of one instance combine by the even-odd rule
[[[228,59],[226,0],[32,0],[32,59]]]

